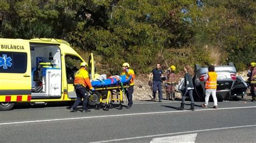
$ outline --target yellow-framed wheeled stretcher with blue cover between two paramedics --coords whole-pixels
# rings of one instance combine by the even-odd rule
[[[92,81],[92,86],[96,92],[100,93],[99,103],[96,104],[96,109],[102,108],[108,111],[113,108],[113,103],[119,102],[119,109],[123,109],[123,97],[125,96],[125,88],[130,87],[131,77],[126,79],[126,75],[120,77],[107,78],[103,81]]]

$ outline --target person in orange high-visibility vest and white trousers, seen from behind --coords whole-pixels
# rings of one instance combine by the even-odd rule
[[[205,103],[201,104],[203,108],[207,108],[208,101],[210,95],[212,95],[214,106],[213,108],[218,108],[218,99],[216,97],[216,90],[217,90],[217,73],[215,72],[214,66],[208,66],[208,73],[204,77],[206,80],[205,82]]]

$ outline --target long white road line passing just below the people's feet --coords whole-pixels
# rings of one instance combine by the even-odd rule
[[[256,108],[256,106],[237,107],[237,108],[219,108],[219,109],[199,109],[199,110],[195,110],[193,112],[211,111],[211,110],[245,109],[245,108]],[[106,116],[76,117],[76,118],[62,118],[62,119],[48,119],[48,120],[30,120],[30,121],[17,121],[17,122],[10,122],[10,123],[0,123],[0,125],[38,123],[38,122],[46,122],[46,121],[60,121],[60,120],[107,118],[107,117],[120,117],[120,116],[132,116],[132,115],[133,116],[137,116],[137,115],[152,115],[152,114],[159,114],[159,113],[176,113],[176,112],[192,112],[192,111],[190,111],[190,110],[181,110],[181,111],[163,111],[163,112],[144,112],[144,113],[130,113],[130,114],[106,115]]]

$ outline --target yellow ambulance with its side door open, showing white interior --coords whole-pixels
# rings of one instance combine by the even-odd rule
[[[18,102],[75,100],[74,74],[83,61],[64,40],[0,38],[0,110],[10,110]],[[92,78],[94,70],[91,54]]]

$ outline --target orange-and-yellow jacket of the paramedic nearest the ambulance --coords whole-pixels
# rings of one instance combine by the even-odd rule
[[[90,89],[92,89],[88,71],[80,68],[75,75],[74,84],[82,84],[85,88],[88,86]]]

